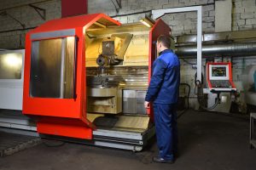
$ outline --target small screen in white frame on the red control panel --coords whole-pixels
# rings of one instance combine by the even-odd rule
[[[229,80],[229,65],[209,65],[210,80]]]

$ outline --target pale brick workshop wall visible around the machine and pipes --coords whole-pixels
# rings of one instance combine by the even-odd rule
[[[29,28],[38,26],[45,22],[37,12],[27,6],[28,3],[46,9],[46,20],[61,18],[61,0],[1,0],[0,13],[6,9],[15,19],[25,25],[25,31],[9,31],[21,29],[18,22],[9,16],[0,15],[0,48],[24,48],[25,34]],[[256,29],[256,1],[255,0],[232,0],[232,31]],[[122,8],[119,12],[114,8],[111,0],[88,0],[88,12],[105,13],[113,16],[121,23],[138,22],[149,10],[160,8],[176,8],[184,6],[202,5],[203,23],[202,31],[213,32],[215,23],[215,1],[213,0],[122,0]],[[141,13],[141,14],[132,14]],[[131,14],[131,15],[125,15]],[[125,16],[124,16],[125,15]],[[196,13],[166,14],[162,17],[172,27],[172,35],[191,34],[196,31]],[[187,59],[190,63],[196,63],[196,59]],[[204,59],[202,61],[204,63]],[[241,65],[242,63],[242,65]],[[252,58],[234,59],[233,77],[236,82],[241,82],[241,72],[252,63]],[[196,105],[194,94],[195,70],[181,59],[182,82],[191,85],[191,102]],[[183,89],[184,91],[184,89]],[[196,106],[195,106],[196,107]]]

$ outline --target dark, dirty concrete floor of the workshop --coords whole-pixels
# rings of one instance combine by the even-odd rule
[[[83,144],[39,144],[0,158],[0,169],[256,169],[256,150],[249,150],[247,119],[187,111],[178,119],[178,127],[180,156],[172,165],[151,162],[157,155],[155,143],[139,153]]]

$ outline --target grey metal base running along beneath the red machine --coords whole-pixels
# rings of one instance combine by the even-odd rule
[[[15,133],[22,134],[27,136],[36,136],[38,137],[36,122],[33,122],[28,117],[21,114],[20,111],[2,111],[0,112],[0,131],[6,133]],[[136,116],[140,118],[139,116]],[[120,119],[122,121],[123,119]],[[130,119],[129,119],[130,120]],[[102,123],[102,122],[105,122]],[[99,125],[98,128],[92,131],[92,139],[77,139],[77,138],[68,138],[63,136],[55,136],[50,134],[40,133],[41,138],[43,139],[56,139],[74,143],[81,144],[92,144],[96,146],[103,146],[109,148],[116,148],[122,150],[133,150],[141,151],[143,147],[148,144],[148,141],[154,136],[155,130],[154,125],[149,123],[148,128],[135,128],[139,126],[126,126],[126,127],[115,127],[111,126],[113,120],[104,119],[102,122],[98,122],[102,125]],[[106,123],[108,122],[108,123]],[[110,122],[110,123],[109,123]],[[133,120],[132,122],[143,122],[143,119]],[[115,122],[117,123],[117,122]],[[117,123],[120,124],[120,123]],[[147,123],[148,124],[148,123]],[[107,126],[108,125],[108,126]],[[122,124],[123,125],[123,124]],[[130,125],[128,123],[128,125]],[[142,126],[144,127],[144,126]]]

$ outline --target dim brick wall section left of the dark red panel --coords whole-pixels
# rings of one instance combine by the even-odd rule
[[[6,11],[11,16],[0,15],[0,48],[24,48],[26,32],[46,21],[38,15],[34,8],[27,5],[29,3],[44,8],[46,20],[61,18],[61,0],[2,0],[0,1],[0,14]],[[22,26],[19,22],[11,17],[19,20],[25,26],[25,30],[21,30]]]

